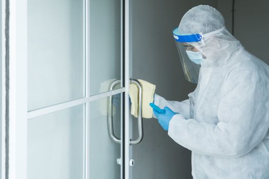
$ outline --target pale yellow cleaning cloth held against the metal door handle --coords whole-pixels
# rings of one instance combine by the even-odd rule
[[[152,118],[153,110],[150,107],[150,103],[154,100],[154,93],[156,86],[149,83],[148,81],[138,80],[143,88],[142,94],[142,117]],[[136,85],[131,84],[129,89],[129,96],[131,99],[131,115],[137,118],[137,107],[138,107],[138,88]]]

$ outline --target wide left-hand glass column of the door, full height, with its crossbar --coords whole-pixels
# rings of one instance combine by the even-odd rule
[[[27,178],[84,178],[84,0],[27,1]]]

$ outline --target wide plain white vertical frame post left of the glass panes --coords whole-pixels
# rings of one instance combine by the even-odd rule
[[[6,1],[8,2],[8,1]],[[9,5],[9,179],[27,175],[27,0]],[[7,119],[6,119],[7,120]]]

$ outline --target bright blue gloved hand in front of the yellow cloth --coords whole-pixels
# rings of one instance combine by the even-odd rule
[[[168,130],[169,128],[169,122],[171,121],[172,117],[178,113],[175,113],[173,110],[171,110],[169,107],[164,107],[165,113],[159,113],[159,111],[153,109],[154,115],[157,117],[158,122],[160,123],[161,127],[164,130]]]

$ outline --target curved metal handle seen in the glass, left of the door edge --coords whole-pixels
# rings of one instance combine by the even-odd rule
[[[109,87],[109,91],[112,91],[117,84],[120,84],[120,80],[113,81]],[[110,96],[108,99],[108,132],[110,138],[120,144],[120,139],[115,136],[113,128],[113,96]]]

